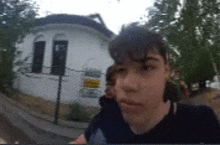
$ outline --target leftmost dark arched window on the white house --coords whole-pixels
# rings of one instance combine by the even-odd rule
[[[33,73],[41,73],[42,65],[44,59],[44,50],[45,50],[45,37],[40,35],[34,40],[34,55],[33,55],[33,64],[32,64],[32,72]]]

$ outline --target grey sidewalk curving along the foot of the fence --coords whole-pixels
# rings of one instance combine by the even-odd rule
[[[19,127],[19,124],[16,123],[13,117],[15,115],[38,129],[72,139],[77,138],[88,126],[88,123],[65,120],[58,120],[58,125],[56,125],[53,123],[53,117],[38,114],[22,104],[7,98],[2,93],[0,93],[0,112],[3,112],[17,127]],[[25,128],[23,130],[25,131]]]

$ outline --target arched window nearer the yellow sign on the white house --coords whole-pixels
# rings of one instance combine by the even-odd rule
[[[51,74],[65,74],[67,46],[68,41],[64,34],[58,34],[53,38],[53,58]]]

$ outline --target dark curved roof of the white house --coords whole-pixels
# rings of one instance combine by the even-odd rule
[[[38,25],[44,26],[48,24],[78,24],[94,28],[105,36],[111,38],[114,33],[107,29],[105,25],[99,24],[90,17],[79,15],[55,14],[38,19]]]

